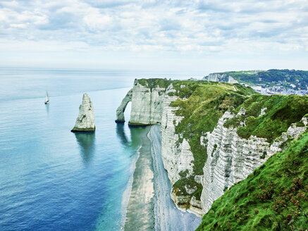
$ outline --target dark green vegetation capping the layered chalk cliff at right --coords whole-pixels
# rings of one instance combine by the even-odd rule
[[[235,112],[240,111],[241,107],[247,110],[245,116],[229,119],[224,126],[238,127],[240,121],[245,121],[246,126],[238,127],[240,137],[248,139],[251,135],[255,135],[273,142],[286,132],[292,123],[301,125],[300,120],[308,113],[308,97],[254,95],[238,106]],[[259,116],[261,108],[266,108],[264,116]]]

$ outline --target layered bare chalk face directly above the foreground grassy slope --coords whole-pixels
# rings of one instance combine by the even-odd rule
[[[264,111],[264,110],[263,110]],[[207,146],[207,162],[204,165],[202,179],[201,206],[202,214],[207,213],[211,204],[218,199],[226,189],[244,180],[252,171],[266,160],[282,151],[281,146],[289,137],[295,138],[307,130],[307,118],[302,118],[302,127],[290,125],[272,144],[266,139],[251,136],[242,139],[237,134],[236,127],[224,127],[226,120],[245,114],[241,109],[238,115],[226,111],[218,120],[213,132],[207,132],[201,137],[201,143]],[[262,116],[262,110],[261,115]]]

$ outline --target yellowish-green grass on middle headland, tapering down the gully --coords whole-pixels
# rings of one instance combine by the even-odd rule
[[[190,144],[190,149],[194,155],[194,173],[203,174],[204,163],[207,160],[207,149],[200,144],[200,137],[205,132],[214,130],[218,119],[221,118],[231,106],[239,106],[248,96],[256,94],[250,87],[242,85],[230,85],[227,83],[175,80],[173,87],[174,94],[180,99],[173,101],[171,106],[179,107],[175,111],[176,116],[183,116],[183,120],[175,127],[175,133],[183,135]],[[179,139],[178,142],[182,142]],[[199,199],[202,185],[197,184],[193,177],[181,178],[173,187],[182,188],[185,185],[197,186],[197,191],[192,194]],[[185,192],[185,191],[184,191]],[[177,195],[183,194],[183,190],[177,191]]]

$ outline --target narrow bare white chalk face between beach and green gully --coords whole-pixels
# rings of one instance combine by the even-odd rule
[[[194,175],[193,163],[194,156],[190,151],[190,144],[186,139],[179,142],[181,135],[175,134],[175,126],[180,123],[183,117],[176,116],[175,111],[177,107],[171,106],[171,102],[178,99],[177,96],[169,96],[168,93],[175,92],[173,86],[167,88],[166,96],[164,97],[163,115],[161,118],[161,157],[164,162],[164,167],[168,172],[168,178],[171,184],[180,180],[182,177],[180,173],[186,173],[185,177]],[[201,216],[201,201],[197,200],[195,196],[191,196],[197,188],[185,185],[185,192],[176,192],[173,188],[171,190],[171,199],[175,202],[178,208],[195,213]]]

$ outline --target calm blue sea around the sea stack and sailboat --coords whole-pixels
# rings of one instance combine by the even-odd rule
[[[0,230],[120,230],[143,128],[114,120],[136,77],[192,76],[0,68]],[[84,92],[94,134],[70,132]]]

